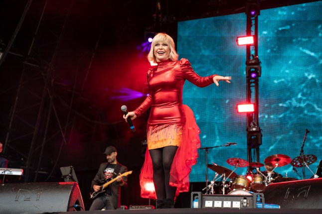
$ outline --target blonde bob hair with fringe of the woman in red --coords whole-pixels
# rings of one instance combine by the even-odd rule
[[[154,47],[156,46],[157,43],[165,43],[169,46],[170,48],[170,55],[169,55],[169,59],[171,61],[177,61],[178,60],[178,54],[176,53],[175,49],[174,49],[174,41],[171,38],[171,36],[167,35],[166,33],[158,33],[152,40],[152,44],[151,44],[151,49],[150,52],[148,54],[148,60],[149,61],[153,61],[154,63],[157,63],[157,58],[156,55],[154,53]]]

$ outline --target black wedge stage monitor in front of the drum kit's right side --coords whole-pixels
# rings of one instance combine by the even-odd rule
[[[263,193],[265,203],[281,208],[322,209],[322,178],[270,184]]]

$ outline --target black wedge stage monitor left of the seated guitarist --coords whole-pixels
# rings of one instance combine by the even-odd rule
[[[76,182],[0,185],[0,214],[69,212],[80,207],[84,204]]]

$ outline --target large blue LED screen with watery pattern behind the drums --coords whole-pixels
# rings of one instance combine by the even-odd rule
[[[306,129],[304,154],[317,156],[305,169],[306,179],[316,173],[322,159],[322,1],[261,10],[258,16],[259,126],[263,138],[260,162],[283,154],[300,155]],[[237,104],[246,101],[246,48],[236,37],[246,35],[246,14],[232,14],[178,23],[179,58],[187,58],[200,76],[231,76],[231,84],[219,82],[198,88],[186,81],[183,103],[194,111],[201,130],[201,147],[236,142],[235,146],[199,150],[190,181],[205,181],[206,163],[233,170],[226,160],[247,160],[246,115]],[[253,160],[256,160],[252,156]],[[245,175],[247,167],[236,169]],[[264,167],[260,168],[264,171]],[[275,171],[284,177],[303,179],[302,168],[291,164]],[[313,172],[311,172],[311,170]],[[208,169],[208,179],[215,172]]]

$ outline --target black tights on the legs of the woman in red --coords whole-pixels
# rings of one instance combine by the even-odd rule
[[[149,150],[153,164],[153,182],[158,200],[174,199],[176,187],[169,186],[170,169],[177,146]]]

